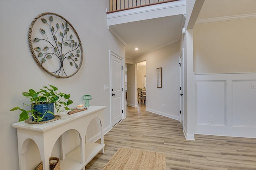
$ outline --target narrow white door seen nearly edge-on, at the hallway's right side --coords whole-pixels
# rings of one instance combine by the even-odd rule
[[[182,48],[182,51],[180,53],[180,123],[183,125],[183,117],[184,117],[184,111],[183,111],[183,54],[184,54],[184,48]]]

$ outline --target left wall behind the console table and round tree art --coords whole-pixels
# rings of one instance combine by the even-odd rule
[[[70,93],[74,107],[84,94],[90,94],[90,105],[106,106],[104,130],[110,129],[110,100],[104,84],[109,82],[109,50],[121,57],[124,45],[108,31],[105,0],[1,0],[0,1],[0,169],[18,170],[18,148],[16,129],[12,123],[19,119],[19,112],[9,110],[22,106],[28,100],[22,92],[29,88],[38,89],[52,84],[60,92]],[[34,61],[28,46],[28,28],[38,14],[55,12],[66,18],[75,27],[83,46],[84,60],[77,74],[60,79],[44,72]],[[100,68],[100,69],[99,69]],[[90,137],[98,133],[89,127]],[[69,146],[78,144],[78,136],[72,131]],[[31,144],[31,145],[30,145]],[[27,170],[35,169],[40,163],[37,147],[30,142],[27,154]],[[72,147],[67,148],[72,150]],[[52,151],[58,156],[58,143]]]

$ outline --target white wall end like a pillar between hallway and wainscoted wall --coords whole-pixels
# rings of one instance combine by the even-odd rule
[[[196,0],[186,0],[186,20],[184,27],[186,29],[184,36],[180,39],[180,51],[184,48],[184,123],[183,132],[186,139],[194,140],[194,73],[193,73],[193,23],[190,18],[193,13]],[[195,16],[192,17],[194,22]],[[189,28],[188,28],[188,25]]]

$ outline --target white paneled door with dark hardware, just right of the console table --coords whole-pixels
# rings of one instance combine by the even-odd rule
[[[122,120],[123,115],[123,60],[111,52],[111,116],[112,127]]]

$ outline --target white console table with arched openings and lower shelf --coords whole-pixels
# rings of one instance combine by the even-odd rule
[[[32,139],[38,146],[44,170],[49,170],[49,158],[51,157],[52,149],[58,138],[60,138],[61,148],[60,169],[85,169],[86,164],[88,164],[100,150],[102,153],[104,152],[104,109],[105,106],[90,106],[87,110],[72,115],[59,113],[61,119],[48,123],[28,124],[24,123],[24,121],[13,123],[12,127],[17,128],[20,170],[26,170],[26,149],[30,139]],[[90,121],[94,118],[100,120],[101,144],[87,143],[86,141],[87,127]],[[80,146],[66,155],[62,134],[70,129],[78,131]]]

